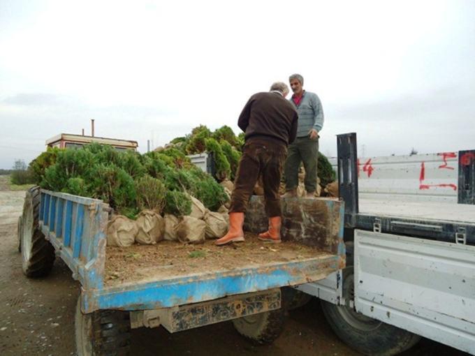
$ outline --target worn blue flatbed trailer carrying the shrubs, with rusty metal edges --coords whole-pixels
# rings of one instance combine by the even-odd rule
[[[251,207],[260,211],[261,198],[253,197]],[[49,272],[52,258],[48,256],[54,253],[66,262],[73,278],[80,281],[75,319],[79,355],[102,355],[105,346],[113,346],[117,354],[124,352],[131,327],[163,325],[168,331],[177,332],[225,320],[233,320],[238,332],[261,342],[263,336],[265,340],[272,339],[265,335],[268,323],[257,323],[261,329],[249,329],[252,323],[246,320],[275,320],[269,316],[284,309],[282,287],[325,279],[345,264],[341,200],[294,198],[283,201],[283,210],[283,245],[312,246],[314,256],[251,265],[243,260],[241,265],[229,269],[181,274],[177,271],[166,278],[151,274],[145,279],[109,283],[105,268],[108,205],[101,200],[36,187],[27,193],[20,218],[23,269],[27,276]],[[248,216],[247,228],[256,230],[252,232],[265,227],[265,216]],[[47,244],[41,241],[41,235]],[[38,255],[38,251],[43,251],[43,255]],[[159,269],[159,260],[156,265]],[[107,328],[115,332],[108,334]],[[275,339],[278,335],[273,336]]]

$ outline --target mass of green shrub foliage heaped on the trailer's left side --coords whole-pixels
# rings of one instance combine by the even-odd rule
[[[200,126],[196,133],[210,131]],[[226,158],[222,151],[221,156]],[[136,218],[140,209],[187,215],[191,212],[188,194],[212,210],[226,202],[217,181],[175,147],[144,155],[97,143],[81,149],[49,149],[31,167],[43,188],[101,199],[130,218]]]

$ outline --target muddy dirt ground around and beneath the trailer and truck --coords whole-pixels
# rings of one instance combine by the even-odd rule
[[[1,177],[0,177],[1,179]],[[0,187],[6,188],[3,184]],[[17,252],[17,218],[24,192],[0,191],[0,355],[75,355],[74,310],[79,285],[61,260],[45,279],[27,279]],[[358,355],[337,339],[315,299],[291,311],[272,346],[254,346],[231,322],[169,334],[163,328],[135,329],[132,355]],[[424,340],[409,356],[467,355]]]

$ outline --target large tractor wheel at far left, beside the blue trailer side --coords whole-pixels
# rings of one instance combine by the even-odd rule
[[[29,188],[24,198],[22,227],[19,228],[23,273],[41,277],[50,273],[54,262],[54,247],[40,230],[40,187]]]

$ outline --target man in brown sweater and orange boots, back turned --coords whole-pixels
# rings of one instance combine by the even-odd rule
[[[244,241],[244,213],[259,175],[262,175],[265,212],[269,230],[259,234],[265,242],[281,242],[279,184],[287,146],[295,140],[298,114],[286,100],[285,83],[272,84],[269,92],[257,93],[244,106],[238,126],[244,131],[244,147],[229,208],[229,231],[217,245]]]

